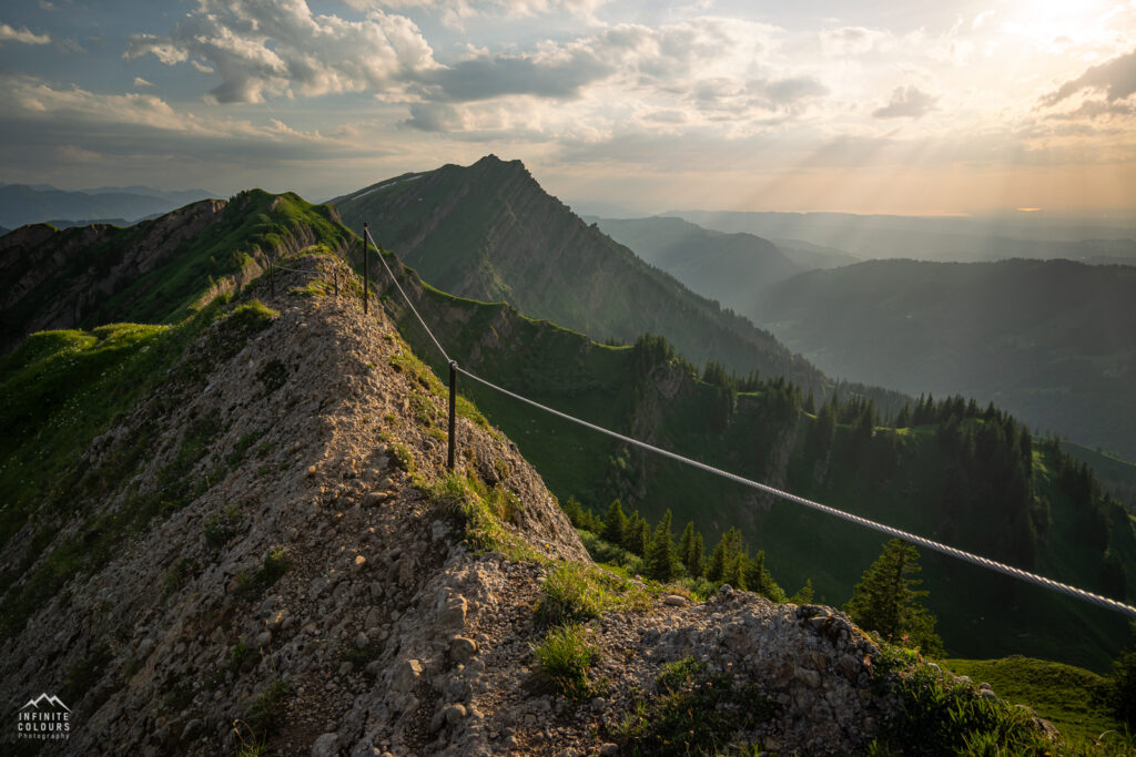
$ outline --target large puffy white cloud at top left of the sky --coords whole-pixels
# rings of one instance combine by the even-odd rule
[[[131,37],[125,57],[145,54],[216,69],[222,83],[209,94],[223,103],[399,90],[438,66],[404,16],[370,10],[365,20],[349,22],[312,15],[304,0],[200,0],[168,37]]]

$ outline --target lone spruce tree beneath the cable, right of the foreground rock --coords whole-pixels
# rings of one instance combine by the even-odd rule
[[[863,572],[844,612],[857,625],[893,644],[941,655],[943,641],[935,633],[935,615],[919,603],[928,592],[917,588],[920,579],[909,578],[920,570],[914,546],[892,539]]]

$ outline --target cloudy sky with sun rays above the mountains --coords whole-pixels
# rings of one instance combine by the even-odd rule
[[[0,182],[69,190],[494,153],[608,215],[1136,205],[1136,0],[24,0],[0,101]]]

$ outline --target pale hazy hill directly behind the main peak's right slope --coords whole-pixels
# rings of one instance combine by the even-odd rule
[[[752,310],[765,287],[807,270],[752,234],[722,234],[680,218],[585,220],[692,292],[738,313]]]

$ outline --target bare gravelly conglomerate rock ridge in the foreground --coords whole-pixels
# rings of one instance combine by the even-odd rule
[[[536,670],[534,609],[559,565],[590,564],[576,532],[516,446],[462,417],[459,468],[511,493],[500,528],[527,558],[475,550],[429,495],[445,474],[441,385],[376,303],[365,317],[348,296],[341,261],[289,266],[319,274],[282,276],[275,298],[253,284],[242,296],[278,317],[220,353],[219,327],[202,335],[182,362],[207,369],[172,378],[173,402],[148,398],[87,451],[98,470],[161,424],[144,469],[92,505],[114,516],[214,429],[192,501],[43,597],[5,641],[9,704],[72,692],[70,739],[43,754],[234,754],[259,740],[304,756],[617,754],[620,724],[684,659],[760,705],[765,716],[738,718],[738,743],[857,752],[895,714],[871,688],[878,649],[844,615],[728,587],[704,603],[651,589],[592,619],[593,690],[559,696]],[[316,280],[333,272],[343,296]]]

